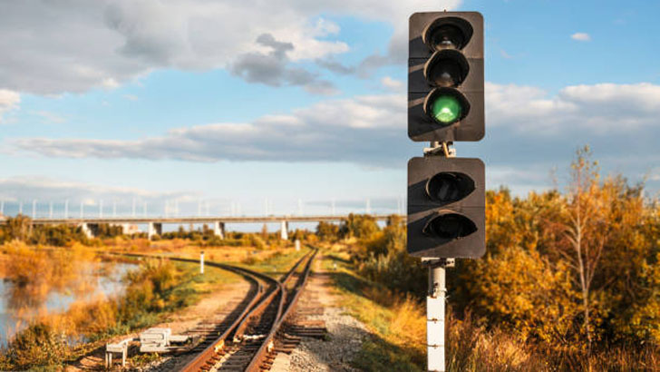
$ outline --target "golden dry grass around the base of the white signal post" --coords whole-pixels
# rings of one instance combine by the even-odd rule
[[[324,269],[335,275],[342,305],[374,334],[354,360],[364,370],[426,370],[425,306],[360,277],[341,247],[328,250]],[[337,264],[337,270],[334,264]],[[660,371],[656,347],[612,345],[591,355],[562,350],[500,328],[486,328],[470,313],[447,309],[446,364],[450,371]]]

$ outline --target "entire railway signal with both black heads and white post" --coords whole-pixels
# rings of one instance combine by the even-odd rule
[[[429,266],[428,370],[444,371],[445,268],[486,251],[485,167],[450,148],[484,135],[483,17],[415,13],[409,26],[408,136],[431,147],[408,162],[407,249]]]

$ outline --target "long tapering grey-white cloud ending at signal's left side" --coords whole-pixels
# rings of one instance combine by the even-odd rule
[[[28,138],[13,143],[21,151],[66,158],[381,164],[405,150],[405,110],[403,94],[364,95],[255,122],[184,127],[135,141]]]

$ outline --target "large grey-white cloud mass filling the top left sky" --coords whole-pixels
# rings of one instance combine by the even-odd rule
[[[413,11],[452,9],[460,0],[23,0],[0,12],[0,85],[19,93],[113,88],[159,68],[225,68],[272,34],[294,49],[291,61],[344,53],[339,26],[322,15],[393,24],[388,58],[405,58]],[[377,9],[377,11],[374,11]],[[330,36],[330,37],[328,37]]]

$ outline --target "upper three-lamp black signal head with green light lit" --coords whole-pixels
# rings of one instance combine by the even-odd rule
[[[410,17],[408,136],[415,142],[484,135],[483,18],[477,12]]]

